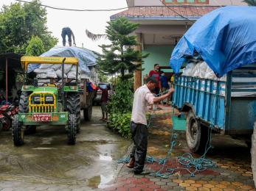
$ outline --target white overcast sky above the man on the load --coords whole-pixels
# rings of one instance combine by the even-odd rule
[[[32,1],[32,0],[25,0]],[[10,4],[15,2],[14,0],[1,0],[0,7],[3,4]],[[61,7],[69,9],[116,9],[121,7],[127,7],[125,0],[41,0],[42,4],[46,4],[52,7]],[[62,46],[61,29],[64,26],[69,26],[75,34],[75,41],[77,46],[83,46],[94,51],[100,51],[100,47],[103,43],[108,43],[107,40],[98,40],[96,42],[91,41],[86,37],[86,29],[94,34],[104,34],[106,22],[109,21],[109,17],[119,11],[110,12],[75,12],[65,10],[47,10],[47,26],[52,35],[58,37],[58,45]]]

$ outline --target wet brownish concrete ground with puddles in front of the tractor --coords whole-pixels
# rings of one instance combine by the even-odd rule
[[[117,159],[130,141],[100,122],[94,107],[90,122],[82,122],[77,144],[66,144],[58,126],[37,129],[25,145],[13,146],[11,131],[0,131],[0,190],[91,190],[104,188],[117,173]]]

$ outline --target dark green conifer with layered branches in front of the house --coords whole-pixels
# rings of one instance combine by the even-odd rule
[[[111,45],[102,45],[103,54],[98,57],[100,69],[107,73],[120,73],[121,79],[131,78],[134,71],[140,70],[141,65],[134,62],[142,62],[148,54],[134,51],[134,46],[138,45],[136,36],[130,35],[136,30],[139,24],[133,24],[126,18],[108,22],[106,26],[106,36],[111,41]]]

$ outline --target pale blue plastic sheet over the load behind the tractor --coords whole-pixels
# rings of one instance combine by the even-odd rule
[[[86,48],[56,46],[41,54],[41,57],[76,57],[79,60],[80,70],[90,73],[89,66],[96,65],[97,56]],[[40,65],[29,65],[28,71],[34,71]]]

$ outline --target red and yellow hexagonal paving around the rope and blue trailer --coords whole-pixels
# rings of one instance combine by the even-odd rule
[[[148,155],[156,158],[165,158],[170,145],[172,131],[172,110],[156,112],[150,128],[148,140]],[[167,167],[182,168],[177,162],[176,156],[190,153],[187,148],[185,135],[178,134],[176,146],[167,160],[162,173],[168,173]],[[105,190],[129,190],[129,191],[160,191],[160,190],[210,190],[210,191],[232,191],[232,190],[255,190],[252,180],[250,149],[243,141],[233,140],[229,136],[212,137],[213,148],[208,152],[207,159],[212,159],[218,165],[203,172],[196,173],[195,177],[190,176],[187,170],[176,170],[168,179],[150,175],[136,176],[133,171],[122,165],[117,181]],[[195,158],[200,157],[193,154]],[[162,168],[157,162],[147,163],[145,168],[156,172]],[[191,171],[195,170],[190,168]]]

